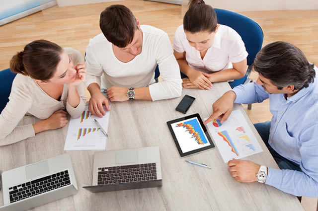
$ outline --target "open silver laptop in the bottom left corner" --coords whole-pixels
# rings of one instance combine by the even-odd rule
[[[69,154],[5,171],[2,187],[0,211],[26,211],[78,191]]]

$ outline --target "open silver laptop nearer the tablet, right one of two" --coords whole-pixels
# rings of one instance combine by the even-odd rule
[[[162,186],[159,147],[94,153],[90,192],[120,191]]]

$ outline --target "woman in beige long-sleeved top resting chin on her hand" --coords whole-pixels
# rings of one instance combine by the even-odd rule
[[[0,145],[62,128],[68,122],[67,113],[73,118],[80,116],[86,103],[82,61],[78,51],[46,40],[33,41],[12,57],[10,70],[18,74],[0,114]],[[42,121],[18,125],[24,115]]]

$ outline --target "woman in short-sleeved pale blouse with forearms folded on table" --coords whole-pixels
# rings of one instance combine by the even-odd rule
[[[173,40],[174,56],[187,76],[182,86],[210,89],[218,81],[233,85],[234,79],[246,73],[244,42],[234,29],[218,24],[214,9],[203,0],[189,4]]]

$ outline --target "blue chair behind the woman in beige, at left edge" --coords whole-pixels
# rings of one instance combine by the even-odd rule
[[[16,73],[11,72],[10,69],[0,71],[0,113],[9,101],[12,81],[15,75]]]

